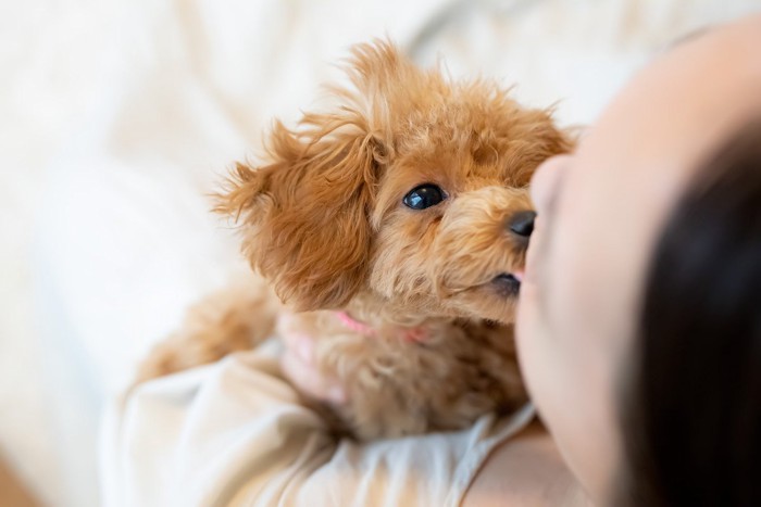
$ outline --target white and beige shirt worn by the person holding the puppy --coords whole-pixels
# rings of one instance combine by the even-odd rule
[[[491,449],[534,416],[357,443],[332,438],[279,372],[279,343],[142,384],[110,407],[107,507],[458,506]]]

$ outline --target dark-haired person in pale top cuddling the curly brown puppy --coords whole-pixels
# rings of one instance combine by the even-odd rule
[[[335,444],[259,352],[122,400],[105,504],[761,505],[758,48],[761,15],[682,42],[537,170],[516,339],[542,424]]]

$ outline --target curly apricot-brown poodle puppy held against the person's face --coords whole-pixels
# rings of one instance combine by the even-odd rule
[[[276,122],[216,212],[266,282],[194,308],[141,380],[302,333],[359,440],[470,426],[527,401],[512,338],[535,213],[528,183],[569,136],[486,79],[421,69],[392,43],[357,46],[332,105]],[[272,289],[276,296],[273,295]],[[278,315],[287,315],[279,318]],[[276,328],[278,328],[276,330]]]

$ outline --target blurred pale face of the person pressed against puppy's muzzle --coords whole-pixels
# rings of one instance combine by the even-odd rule
[[[573,155],[532,182],[538,218],[517,313],[528,390],[592,500],[621,468],[617,385],[646,269],[693,170],[761,114],[761,16],[679,45],[640,73]]]

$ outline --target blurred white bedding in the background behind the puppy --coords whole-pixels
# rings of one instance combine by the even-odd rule
[[[467,7],[463,7],[463,5]],[[388,35],[586,124],[632,73],[759,0],[109,0],[0,7],[0,451],[97,505],[104,396],[238,263],[204,193]],[[441,16],[449,13],[450,17]],[[441,23],[437,23],[441,21]],[[421,38],[421,34],[425,37]]]

